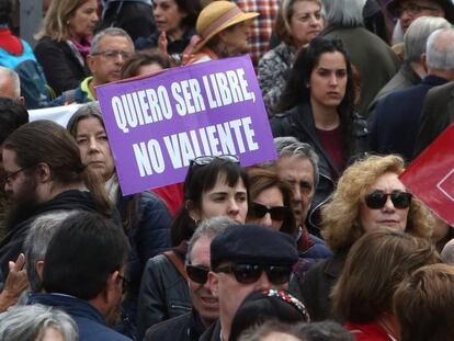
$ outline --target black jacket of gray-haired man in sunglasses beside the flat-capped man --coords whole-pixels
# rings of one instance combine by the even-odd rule
[[[195,311],[180,315],[147,330],[144,341],[198,341],[205,326]]]

